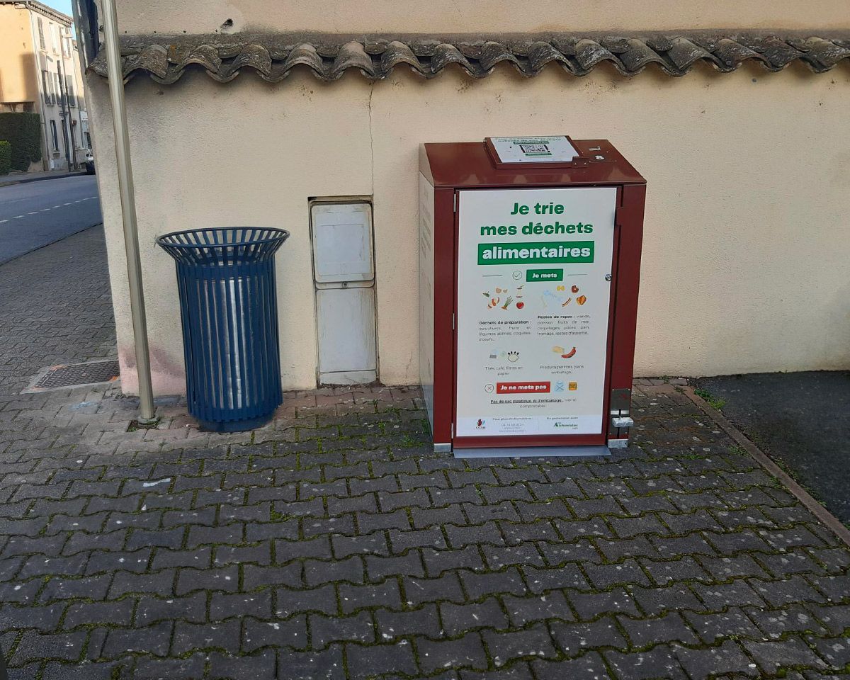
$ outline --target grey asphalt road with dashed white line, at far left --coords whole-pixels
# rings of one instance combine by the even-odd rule
[[[0,264],[101,221],[94,175],[0,187]]]

